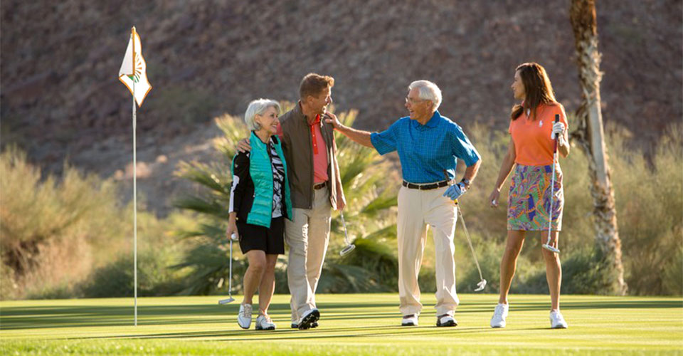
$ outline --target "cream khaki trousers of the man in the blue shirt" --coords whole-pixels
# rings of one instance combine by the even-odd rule
[[[455,293],[455,204],[443,193],[448,187],[431,190],[401,187],[398,192],[398,296],[403,315],[419,315],[422,264],[428,226],[432,227],[436,254],[436,315],[453,315],[460,300]]]

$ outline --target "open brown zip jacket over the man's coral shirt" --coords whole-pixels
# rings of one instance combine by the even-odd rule
[[[337,147],[334,143],[334,127],[320,118],[320,132],[327,148],[327,192],[332,209],[337,209]],[[290,179],[292,206],[300,209],[313,207],[313,140],[300,103],[280,116],[282,128],[282,151],[287,160],[287,177]]]

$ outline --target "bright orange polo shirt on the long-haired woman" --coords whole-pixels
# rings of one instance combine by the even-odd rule
[[[550,135],[553,132],[555,115],[560,115],[560,122],[569,130],[564,108],[560,103],[541,104],[536,108],[536,117],[531,120],[526,110],[510,120],[508,132],[514,142],[514,162],[525,166],[545,166],[553,163],[555,141]],[[533,112],[531,112],[533,117]]]

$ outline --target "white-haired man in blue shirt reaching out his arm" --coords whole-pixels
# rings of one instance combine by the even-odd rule
[[[482,162],[479,152],[460,126],[438,112],[441,90],[428,80],[408,86],[406,108],[401,117],[383,132],[355,130],[329,114],[327,122],[351,140],[374,147],[380,155],[397,151],[401,159],[403,187],[398,193],[398,294],[403,326],[418,325],[422,310],[418,274],[428,226],[432,226],[436,251],[437,326],[455,326],[459,300],[455,293],[453,233],[456,210],[453,200],[470,188]],[[465,177],[455,184],[457,159],[467,165]],[[448,172],[448,179],[444,177]]]

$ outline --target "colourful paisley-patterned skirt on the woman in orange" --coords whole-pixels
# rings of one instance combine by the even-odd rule
[[[555,166],[554,199],[551,199],[551,179],[553,166],[524,166],[517,164],[507,202],[507,229],[538,231],[548,230],[549,211],[553,212],[552,229],[562,229],[562,208],[564,192],[562,189],[562,170]]]

